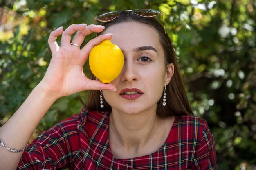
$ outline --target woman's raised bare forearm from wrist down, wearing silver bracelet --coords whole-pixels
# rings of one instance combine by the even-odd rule
[[[22,149],[49,107],[57,98],[46,94],[38,85],[0,130],[0,139],[13,149]],[[12,153],[0,146],[0,169],[14,170],[23,152]]]

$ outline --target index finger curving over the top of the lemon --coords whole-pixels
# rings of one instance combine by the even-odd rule
[[[101,42],[104,41],[105,39],[111,39],[112,37],[113,37],[113,34],[111,33],[99,35],[98,37],[90,40],[81,50],[86,54],[86,57],[88,57],[92,48],[101,44]]]

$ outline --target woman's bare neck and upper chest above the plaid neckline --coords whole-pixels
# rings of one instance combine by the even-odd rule
[[[136,114],[112,109],[109,139],[113,155],[124,159],[153,153],[166,141],[170,125],[168,119],[156,115],[156,109]]]

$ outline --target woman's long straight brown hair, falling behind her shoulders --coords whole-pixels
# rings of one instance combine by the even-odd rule
[[[102,25],[105,26],[106,29],[109,26],[121,22],[139,22],[141,24],[146,24],[147,26],[155,28],[159,34],[159,41],[164,50],[166,66],[169,63],[173,63],[174,65],[173,77],[166,87],[166,106],[162,105],[163,98],[161,98],[157,102],[157,116],[161,118],[168,118],[170,116],[190,115],[192,110],[189,105],[184,83],[182,81],[180,70],[177,65],[173,44],[170,37],[167,35],[167,33],[164,32],[163,26],[154,17],[142,17],[130,11],[124,11],[120,13],[119,17],[111,20],[110,22],[105,22]],[[102,32],[100,34],[102,34]],[[95,76],[92,75],[92,79],[95,79]],[[85,108],[94,111],[112,111],[111,106],[108,105],[106,101],[103,103],[104,107],[100,107],[99,95],[99,91],[91,90],[88,94],[88,100],[86,102],[87,104],[85,105]]]

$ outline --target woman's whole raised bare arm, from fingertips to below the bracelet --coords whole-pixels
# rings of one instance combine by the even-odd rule
[[[72,42],[80,46],[86,35],[102,30],[100,26],[73,24],[64,32],[63,28],[52,31],[48,40],[52,59],[47,72],[0,130],[0,139],[4,144],[13,149],[24,148],[49,107],[62,96],[89,89],[115,89],[114,85],[90,80],[83,73],[83,65],[91,49],[103,40],[111,39],[112,35],[101,35],[92,39],[81,50],[77,46],[70,45],[71,35],[76,31],[78,32]],[[56,43],[59,35],[62,35],[61,46]],[[22,153],[12,153],[0,146],[0,170],[15,170]]]

